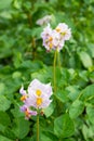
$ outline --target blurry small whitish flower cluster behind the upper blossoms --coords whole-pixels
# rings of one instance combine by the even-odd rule
[[[42,18],[38,20],[36,24],[40,26],[46,25],[48,23],[51,22],[51,18],[52,18],[52,15],[45,15]]]

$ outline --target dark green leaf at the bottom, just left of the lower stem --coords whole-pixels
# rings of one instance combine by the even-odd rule
[[[21,117],[15,118],[14,123],[15,123],[15,126],[13,127],[14,134],[19,139],[25,138],[29,132],[29,126],[30,126],[29,121]]]

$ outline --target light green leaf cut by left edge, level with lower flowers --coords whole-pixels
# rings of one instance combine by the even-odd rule
[[[4,95],[0,95],[0,111],[6,111],[10,105],[11,102]]]

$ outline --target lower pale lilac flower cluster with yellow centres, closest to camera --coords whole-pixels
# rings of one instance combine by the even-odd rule
[[[44,85],[38,79],[33,79],[26,92],[24,87],[21,88],[22,94],[21,101],[24,105],[21,106],[21,111],[25,113],[26,119],[29,119],[31,115],[36,116],[39,110],[45,108],[50,105],[52,100],[52,87],[51,84]]]

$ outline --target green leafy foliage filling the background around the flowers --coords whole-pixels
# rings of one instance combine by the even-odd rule
[[[33,78],[53,85],[43,27],[65,22],[72,38],[61,52],[57,93],[40,117],[40,141],[94,141],[94,0],[0,0],[0,141],[36,141],[36,117],[19,112],[19,88]]]

